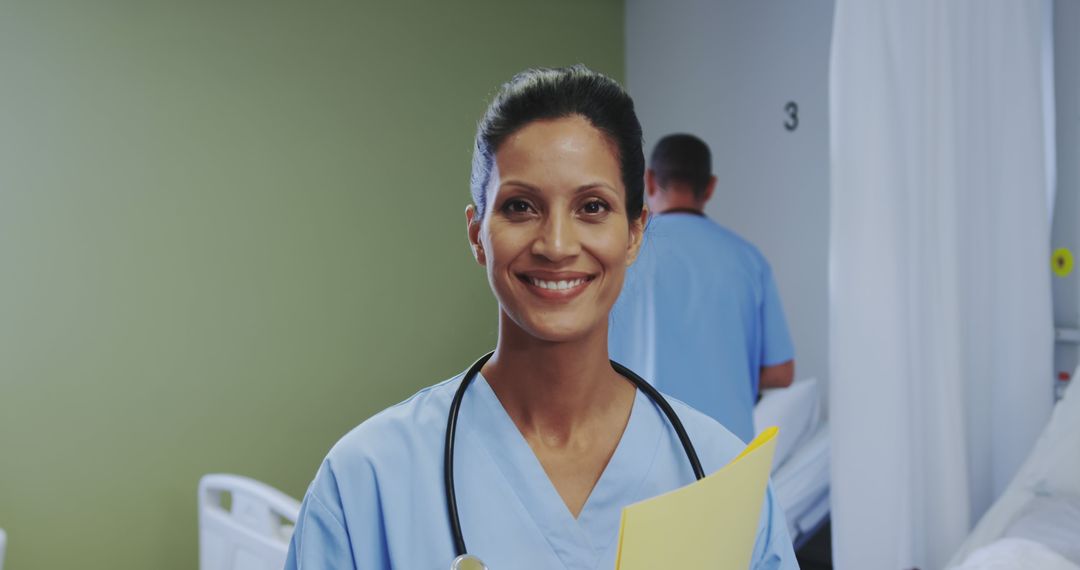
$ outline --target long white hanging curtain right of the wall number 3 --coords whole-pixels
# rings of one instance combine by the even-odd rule
[[[837,0],[839,570],[942,568],[1052,405],[1043,0]]]

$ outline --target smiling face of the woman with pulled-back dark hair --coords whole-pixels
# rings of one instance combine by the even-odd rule
[[[612,145],[581,117],[535,121],[503,141],[490,179],[469,239],[509,324],[555,342],[606,330],[647,215],[626,218]]]

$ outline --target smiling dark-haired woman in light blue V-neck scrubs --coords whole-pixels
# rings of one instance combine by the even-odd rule
[[[694,480],[666,418],[608,361],[608,314],[647,216],[640,140],[630,96],[582,66],[515,76],[477,128],[467,232],[499,337],[464,392],[455,487],[468,551],[492,570],[613,568],[622,508]],[[443,451],[461,378],[334,446],[287,569],[449,567]],[[715,420],[671,405],[706,473],[742,450]],[[771,489],[753,560],[797,568]]]

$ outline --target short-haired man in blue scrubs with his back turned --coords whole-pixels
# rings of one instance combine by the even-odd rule
[[[772,270],[705,217],[716,176],[703,140],[662,138],[645,181],[653,215],[611,311],[611,357],[750,442],[759,388],[795,375]]]

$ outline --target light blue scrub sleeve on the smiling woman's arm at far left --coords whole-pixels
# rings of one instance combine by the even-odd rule
[[[323,462],[300,505],[285,570],[355,568],[337,484],[329,464]]]

